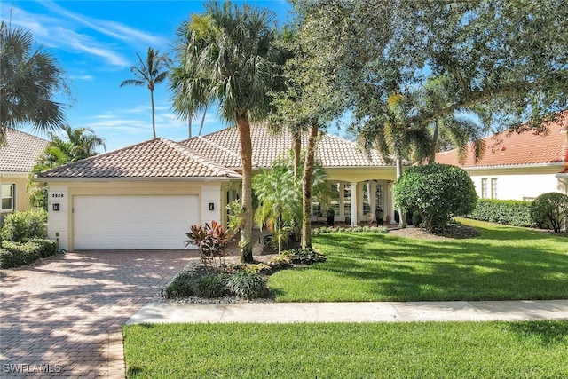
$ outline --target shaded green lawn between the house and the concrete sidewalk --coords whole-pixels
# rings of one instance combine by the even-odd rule
[[[417,240],[389,234],[315,236],[327,262],[273,274],[279,302],[568,299],[568,239],[460,220],[482,234]]]

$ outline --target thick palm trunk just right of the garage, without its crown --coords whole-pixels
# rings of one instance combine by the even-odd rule
[[[252,257],[252,141],[250,140],[250,124],[248,115],[237,114],[237,129],[241,141],[242,161],[242,209],[244,211],[244,227],[241,230],[241,262],[249,263]]]

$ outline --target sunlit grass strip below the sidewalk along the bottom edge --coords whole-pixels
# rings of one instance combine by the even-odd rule
[[[568,377],[568,321],[123,330],[129,378]]]

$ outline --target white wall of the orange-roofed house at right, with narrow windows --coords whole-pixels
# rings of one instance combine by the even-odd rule
[[[487,179],[487,196],[492,198],[491,182],[496,179],[499,200],[532,200],[542,193],[566,193],[566,187],[556,173],[562,166],[540,166],[533,168],[509,168],[494,170],[468,170],[476,186],[477,196],[482,198],[482,181]]]

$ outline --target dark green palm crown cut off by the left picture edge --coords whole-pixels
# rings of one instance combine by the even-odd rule
[[[34,36],[0,22],[0,143],[7,129],[31,123],[38,130],[55,130],[65,120],[63,105],[53,95],[66,90],[63,71]]]

